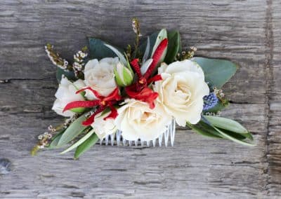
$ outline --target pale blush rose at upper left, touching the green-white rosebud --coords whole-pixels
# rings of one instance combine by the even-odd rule
[[[93,88],[100,93],[100,95],[107,96],[115,90],[117,84],[115,82],[114,67],[119,62],[119,58],[103,58],[98,61],[97,59],[89,60],[85,65],[84,76],[87,86]],[[96,99],[93,92],[86,90],[88,99]]]

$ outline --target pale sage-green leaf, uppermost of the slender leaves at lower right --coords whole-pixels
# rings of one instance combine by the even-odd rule
[[[230,130],[237,133],[248,133],[248,130],[244,128],[237,121],[233,121],[228,118],[217,117],[217,116],[204,116],[207,120],[217,128],[222,128],[225,130]]]

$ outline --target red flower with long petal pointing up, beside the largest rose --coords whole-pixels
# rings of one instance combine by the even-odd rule
[[[134,59],[131,61],[131,66],[133,67],[134,71],[136,71],[136,74],[138,76],[138,81],[136,81],[136,83],[133,83],[132,85],[127,86],[125,88],[125,91],[127,95],[129,95],[129,97],[147,102],[150,106],[150,109],[153,109],[155,107],[154,100],[158,97],[158,93],[148,88],[148,85],[154,81],[162,80],[162,77],[159,74],[151,78],[149,77],[151,76],[152,71],[154,71],[155,67],[157,66],[167,45],[168,39],[163,39],[163,41],[159,43],[159,46],[156,48],[155,53],[152,56],[152,63],[143,75],[141,74],[138,59]]]

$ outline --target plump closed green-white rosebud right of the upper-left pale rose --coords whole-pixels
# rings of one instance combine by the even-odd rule
[[[133,72],[124,67],[121,62],[117,63],[114,72],[117,85],[125,87],[133,83]]]

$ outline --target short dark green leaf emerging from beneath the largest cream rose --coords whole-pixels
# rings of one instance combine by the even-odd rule
[[[188,125],[192,130],[200,135],[213,138],[222,138],[222,136],[214,128],[202,121],[200,121],[196,125],[192,125],[190,123],[186,123],[186,125]]]

